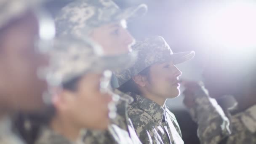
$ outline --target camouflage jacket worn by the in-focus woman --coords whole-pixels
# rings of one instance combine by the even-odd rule
[[[135,95],[134,102],[128,107],[128,116],[143,144],[184,143],[176,117],[166,106]]]

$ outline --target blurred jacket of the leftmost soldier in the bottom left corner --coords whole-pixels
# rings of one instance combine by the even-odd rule
[[[12,131],[12,122],[9,117],[0,120],[0,144],[24,144],[20,137]]]

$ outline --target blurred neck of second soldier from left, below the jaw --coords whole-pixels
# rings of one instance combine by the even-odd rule
[[[72,120],[69,120],[67,117],[61,117],[60,115],[56,115],[53,118],[51,128],[65,136],[69,141],[77,141],[80,133],[80,128]]]

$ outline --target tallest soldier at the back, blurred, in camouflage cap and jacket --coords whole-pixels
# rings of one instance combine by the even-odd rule
[[[90,37],[108,55],[122,54],[127,62],[134,61],[136,55],[130,53],[134,39],[126,30],[126,20],[146,10],[145,5],[139,5],[122,11],[111,0],[77,0],[62,8],[56,16],[57,35]],[[121,97],[115,94],[115,99],[119,99],[117,117],[112,119],[108,131],[88,130],[84,140],[86,144],[140,143],[127,117],[127,105],[132,98],[118,91],[115,93],[121,94]]]

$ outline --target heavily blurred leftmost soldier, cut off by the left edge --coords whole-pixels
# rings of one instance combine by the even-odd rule
[[[55,28],[40,8],[43,0],[0,1],[0,144],[22,143],[13,134],[11,117],[41,111],[47,83],[40,69],[48,64]]]

